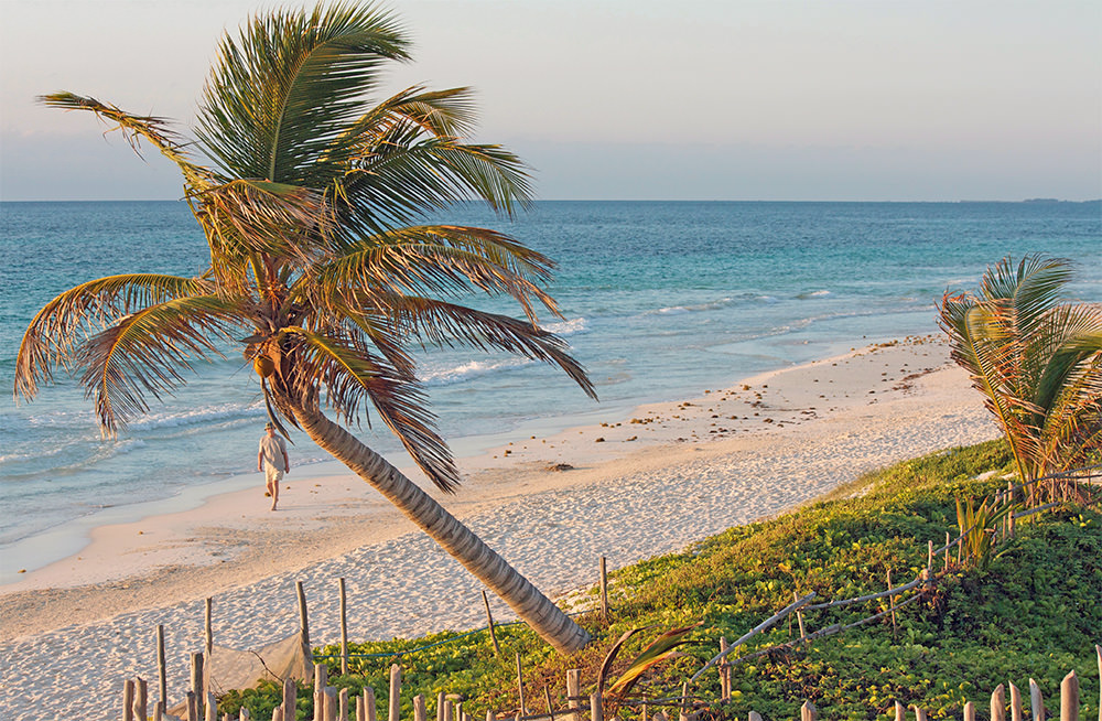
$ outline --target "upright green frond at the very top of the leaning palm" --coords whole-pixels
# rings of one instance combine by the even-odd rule
[[[197,134],[234,177],[321,189],[344,172],[325,162],[360,116],[380,66],[407,60],[393,17],[337,2],[273,11],[226,35],[203,94]]]

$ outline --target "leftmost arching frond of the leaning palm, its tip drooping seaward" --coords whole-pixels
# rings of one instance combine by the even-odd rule
[[[170,299],[209,293],[210,283],[159,273],[109,276],[72,288],[34,316],[15,357],[15,395],[30,400],[55,366],[69,367],[76,346],[119,319]]]

